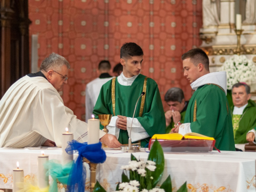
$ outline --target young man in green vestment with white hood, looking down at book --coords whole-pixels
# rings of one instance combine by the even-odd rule
[[[173,132],[199,133],[216,140],[219,150],[234,151],[231,112],[226,98],[226,72],[209,72],[209,58],[201,49],[182,55],[184,76],[196,90],[187,106],[185,121]]]

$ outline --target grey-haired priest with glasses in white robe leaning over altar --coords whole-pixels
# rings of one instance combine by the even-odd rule
[[[40,71],[16,81],[0,101],[0,147],[61,146],[68,127],[74,139],[87,141],[87,123],[63,104],[58,91],[68,80],[69,62],[52,53]],[[119,147],[117,138],[100,132],[100,141]]]

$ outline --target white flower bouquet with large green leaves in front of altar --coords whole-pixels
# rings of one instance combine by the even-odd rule
[[[129,165],[121,166],[123,173],[121,183],[118,183],[116,192],[172,192],[172,180],[170,175],[162,183],[160,188],[156,185],[160,181],[164,170],[164,154],[160,143],[156,140],[148,155],[147,161],[140,161],[131,154]],[[100,190],[100,184],[97,182],[94,192]],[[101,187],[102,188],[102,187]],[[177,192],[187,192],[186,182],[178,189]]]

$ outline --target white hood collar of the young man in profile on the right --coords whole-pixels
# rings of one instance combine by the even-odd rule
[[[200,86],[204,86],[208,83],[218,84],[227,95],[227,75],[225,71],[208,73],[199,77],[193,83],[190,84],[191,88],[197,90]]]

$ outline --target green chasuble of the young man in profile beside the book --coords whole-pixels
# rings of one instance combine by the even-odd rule
[[[195,91],[187,107],[185,123],[191,123],[192,132],[215,138],[219,150],[235,151],[227,97],[215,84],[205,84]]]

